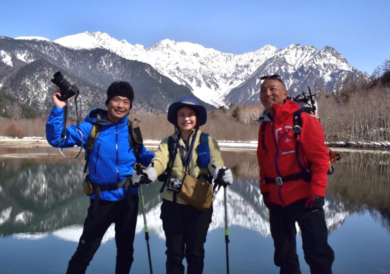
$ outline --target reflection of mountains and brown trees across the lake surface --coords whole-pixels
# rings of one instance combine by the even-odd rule
[[[9,151],[2,154],[12,153]],[[260,194],[256,155],[223,151],[222,156],[235,176],[234,184],[228,187],[229,226],[269,236],[268,210]],[[364,210],[369,210],[373,219],[390,231],[389,161],[389,154],[343,153],[326,191],[324,209],[330,233],[351,214]],[[53,233],[77,242],[89,205],[82,192],[83,164],[83,157],[0,158],[0,235],[41,238]],[[164,238],[160,187],[158,182],[145,186],[144,195],[149,230]],[[215,195],[213,206],[210,231],[224,226],[223,214],[216,213],[223,212],[223,189]],[[140,210],[137,233],[142,229]],[[114,234],[111,227],[103,242]]]

